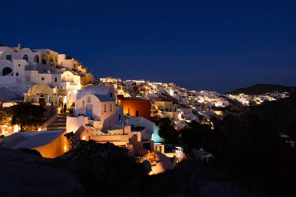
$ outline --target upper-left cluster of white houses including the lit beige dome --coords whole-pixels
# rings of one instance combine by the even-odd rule
[[[0,46],[0,88],[25,101],[57,105],[70,93],[93,83],[93,75],[71,56],[49,49]],[[40,84],[44,84],[40,86]],[[49,89],[50,88],[50,89]]]

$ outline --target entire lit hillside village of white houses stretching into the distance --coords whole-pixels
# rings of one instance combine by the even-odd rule
[[[157,164],[153,173],[173,168],[174,158],[185,158],[181,149],[167,145],[155,125],[169,118],[177,131],[189,123],[215,125],[222,120],[229,99],[243,105],[289,97],[288,93],[222,95],[213,91],[188,90],[178,84],[120,78],[95,78],[87,66],[66,54],[49,49],[0,46],[0,102],[9,107],[18,102],[42,105],[54,114],[35,131],[19,132],[18,125],[2,122],[1,143],[8,148],[29,148],[43,157],[55,158],[78,146],[82,140],[126,148],[130,157],[173,158]],[[74,140],[75,139],[75,140]],[[69,143],[70,142],[70,143]],[[56,145],[58,144],[58,145]],[[157,153],[156,153],[157,152]],[[179,154],[179,156],[178,156]],[[211,154],[196,150],[200,160]],[[165,158],[164,158],[165,157]],[[175,159],[176,161],[176,159]],[[175,165],[175,164],[174,164]]]

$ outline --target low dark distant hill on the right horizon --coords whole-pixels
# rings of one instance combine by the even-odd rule
[[[239,95],[239,94],[245,94],[245,95],[262,95],[265,93],[271,93],[271,92],[288,92],[290,94],[295,94],[296,87],[294,86],[281,86],[281,85],[273,85],[273,84],[256,84],[254,86],[250,86],[247,88],[239,88],[236,90],[233,90],[228,93],[223,94],[232,94],[232,95]]]

